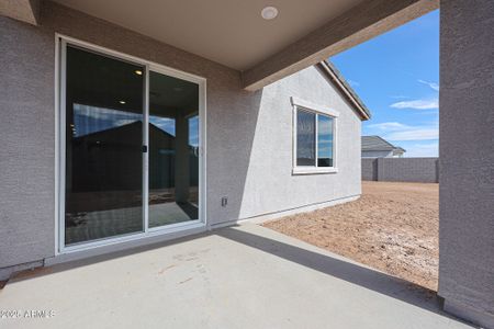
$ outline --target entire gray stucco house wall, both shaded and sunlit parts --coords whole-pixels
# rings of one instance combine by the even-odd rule
[[[0,268],[55,251],[55,32],[207,79],[209,224],[360,193],[360,121],[315,69],[247,92],[238,71],[49,1],[41,26],[0,31]],[[291,175],[291,95],[343,106],[337,174]]]

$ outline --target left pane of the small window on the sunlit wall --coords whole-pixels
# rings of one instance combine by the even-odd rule
[[[315,114],[296,111],[296,166],[315,166]]]

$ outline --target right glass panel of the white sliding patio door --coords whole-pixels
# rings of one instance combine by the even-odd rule
[[[199,218],[199,86],[149,72],[149,227]]]

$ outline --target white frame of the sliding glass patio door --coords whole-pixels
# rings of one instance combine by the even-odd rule
[[[145,68],[143,145],[143,231],[108,237],[104,239],[65,246],[65,174],[66,174],[66,59],[67,45],[74,45],[101,56],[130,61]],[[55,34],[55,256],[115,245],[132,240],[143,240],[156,236],[167,236],[179,231],[206,229],[206,79],[142,58],[122,54],[101,46]],[[199,219],[149,228],[149,72],[190,81],[199,86]],[[151,240],[151,239],[149,239]]]

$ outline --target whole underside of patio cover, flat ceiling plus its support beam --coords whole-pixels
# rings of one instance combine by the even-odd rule
[[[439,0],[54,0],[242,71],[257,90],[439,8]],[[32,24],[40,0],[0,0]],[[263,20],[261,10],[279,14]]]

